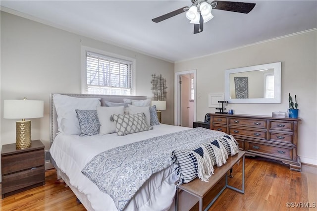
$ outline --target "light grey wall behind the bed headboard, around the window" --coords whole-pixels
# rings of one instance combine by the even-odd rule
[[[50,146],[50,93],[81,92],[81,46],[136,59],[136,95],[153,97],[152,74],[166,78],[162,122],[173,124],[174,64],[82,37],[1,11],[0,145],[15,143],[14,119],[3,119],[4,99],[44,100],[44,117],[32,119],[32,139]]]

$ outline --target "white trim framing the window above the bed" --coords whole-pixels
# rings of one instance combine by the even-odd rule
[[[115,53],[110,53],[110,52],[106,52],[103,50],[99,50],[99,49],[94,49],[94,48],[90,48],[87,46],[81,46],[81,93],[82,94],[87,94],[86,93],[86,87],[87,87],[87,69],[86,69],[86,53],[87,52],[92,52],[92,53],[98,53],[98,54],[102,54],[105,56],[109,56],[109,57],[114,57],[114,58],[118,58],[118,59],[123,59],[123,60],[127,60],[127,61],[131,61],[132,62],[132,94],[131,95],[136,95],[136,59],[135,58],[131,58],[131,57],[127,57],[127,56],[123,56],[123,55],[119,55],[119,54],[115,54]]]

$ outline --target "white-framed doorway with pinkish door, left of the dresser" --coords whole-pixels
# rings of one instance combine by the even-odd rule
[[[175,73],[174,124],[193,127],[196,121],[196,70]]]

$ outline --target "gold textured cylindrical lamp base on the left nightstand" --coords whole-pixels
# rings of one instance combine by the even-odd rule
[[[15,149],[21,150],[31,147],[31,120],[16,121]]]

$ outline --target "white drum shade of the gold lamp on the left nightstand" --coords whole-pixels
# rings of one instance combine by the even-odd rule
[[[30,100],[4,100],[3,118],[5,119],[31,119],[44,115],[43,101]]]

